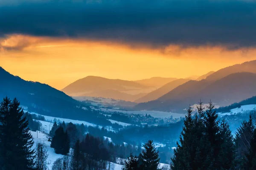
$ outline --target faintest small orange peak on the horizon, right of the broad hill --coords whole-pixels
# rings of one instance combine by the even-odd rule
[[[150,79],[136,80],[134,82],[140,83],[141,85],[153,86],[160,88],[166,83],[172,82],[177,78],[165,78],[165,77],[151,77]]]

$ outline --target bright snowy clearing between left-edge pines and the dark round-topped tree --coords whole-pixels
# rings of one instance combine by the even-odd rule
[[[49,155],[48,155],[48,158],[47,158],[47,162],[49,162],[49,165],[47,165],[47,166],[48,166],[49,170],[51,170],[54,161],[58,158],[61,158],[63,155],[56,154],[54,152],[54,149],[50,147],[51,142],[48,142],[47,134],[44,134],[40,131],[37,131],[37,132],[30,131],[30,132],[31,132],[32,137],[33,137],[34,142],[35,142],[32,149],[34,149],[36,147],[36,142],[38,142],[38,141],[44,142],[46,144],[46,146],[48,147],[48,154]]]

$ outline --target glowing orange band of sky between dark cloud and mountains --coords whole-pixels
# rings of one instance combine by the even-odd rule
[[[160,50],[23,35],[0,40],[0,66],[23,79],[57,89],[89,75],[126,80],[202,75],[256,59],[255,54],[254,49],[227,51],[221,47],[169,46]]]

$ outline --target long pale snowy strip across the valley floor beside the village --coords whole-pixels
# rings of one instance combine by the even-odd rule
[[[100,110],[109,112],[109,113],[120,112],[120,113],[126,113],[126,114],[141,114],[141,115],[150,114],[151,116],[156,118],[169,118],[171,116],[173,116],[173,118],[185,117],[185,114],[163,112],[163,111],[122,111],[122,110],[107,109],[107,108],[101,108]]]

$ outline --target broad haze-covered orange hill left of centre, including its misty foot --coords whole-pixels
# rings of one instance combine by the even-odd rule
[[[133,81],[88,76],[71,83],[62,91],[69,96],[100,96],[134,101],[145,95],[145,92],[154,89],[152,86],[141,85]]]

